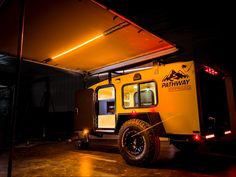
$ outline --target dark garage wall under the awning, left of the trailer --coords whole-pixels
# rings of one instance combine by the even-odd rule
[[[9,144],[15,61],[15,58],[1,57],[1,149]],[[75,91],[83,87],[81,74],[26,61],[22,66],[15,143],[70,138]]]

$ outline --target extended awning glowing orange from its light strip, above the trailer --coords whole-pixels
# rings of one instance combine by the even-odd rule
[[[14,1],[15,2],[15,1]],[[19,2],[2,5],[0,53],[17,55]],[[23,57],[63,69],[101,73],[177,51],[93,0],[25,0]]]

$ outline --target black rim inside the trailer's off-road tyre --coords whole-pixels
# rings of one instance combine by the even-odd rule
[[[128,130],[124,135],[124,148],[133,156],[139,156],[144,150],[144,137],[137,134],[137,130]],[[133,136],[135,135],[135,136]]]

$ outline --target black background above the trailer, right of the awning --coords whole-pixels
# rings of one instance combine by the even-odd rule
[[[235,75],[234,9],[230,1],[97,0],[176,44],[179,58],[215,65]]]

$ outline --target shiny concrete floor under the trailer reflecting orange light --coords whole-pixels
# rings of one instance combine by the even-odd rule
[[[150,167],[127,165],[117,147],[94,144],[78,150],[75,142],[35,142],[18,145],[13,157],[13,177],[236,177],[236,161],[231,157],[179,155],[162,142],[159,162]],[[0,155],[0,177],[7,177],[8,154]]]

